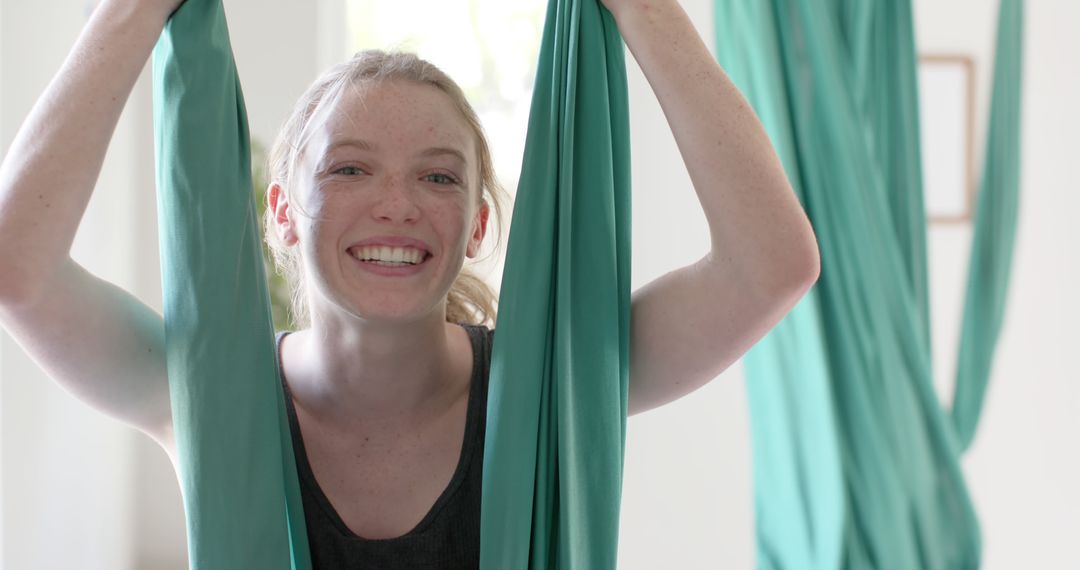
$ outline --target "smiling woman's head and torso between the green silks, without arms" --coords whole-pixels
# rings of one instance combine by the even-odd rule
[[[363,52],[300,98],[270,163],[313,561],[474,566],[495,296],[462,267],[503,202],[475,112],[431,64]]]

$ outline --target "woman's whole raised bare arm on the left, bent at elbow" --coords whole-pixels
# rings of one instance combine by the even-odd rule
[[[104,0],[0,165],[0,323],[68,391],[159,442],[172,423],[161,316],[70,249],[127,96],[180,3]]]

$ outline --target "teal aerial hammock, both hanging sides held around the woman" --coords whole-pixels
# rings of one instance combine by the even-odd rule
[[[482,568],[615,568],[630,160],[621,39],[551,0],[503,277]],[[191,568],[311,568],[221,0],[153,56],[166,359]]]

